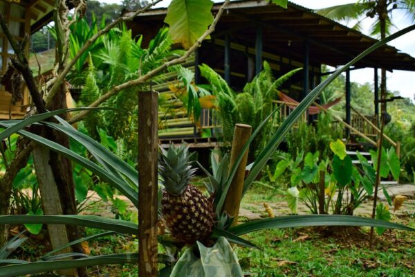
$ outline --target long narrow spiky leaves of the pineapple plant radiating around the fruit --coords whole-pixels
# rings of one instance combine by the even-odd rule
[[[391,35],[387,39],[374,44],[367,51],[358,55],[351,62],[338,69],[330,78],[326,79],[322,84],[317,86],[308,96],[299,104],[299,106],[293,111],[293,113],[286,118],[282,125],[277,129],[277,132],[273,135],[270,141],[267,143],[264,150],[262,150],[255,163],[250,170],[250,174],[246,178],[243,188],[243,195],[246,193],[252,181],[255,180],[259,172],[266,166],[266,162],[272,156],[273,152],[277,149],[279,143],[284,139],[284,136],[289,132],[291,127],[293,127],[295,121],[301,116],[301,114],[306,111],[306,109],[311,105],[311,103],[320,95],[321,91],[335,78],[349,68],[349,66],[361,60],[362,57],[376,50],[383,44],[391,41],[392,39],[399,37],[405,33],[408,33],[410,30],[414,30],[415,26],[410,26],[403,30],[398,31],[394,35]],[[3,132],[0,133],[0,141],[6,139],[11,134],[17,133],[21,136],[26,137],[39,145],[53,150],[59,154],[72,159],[75,163],[79,163],[85,168],[91,170],[95,175],[98,175],[102,180],[106,181],[109,185],[117,188],[120,193],[128,197],[134,206],[138,206],[138,172],[129,166],[128,163],[119,159],[115,154],[104,148],[100,143],[97,143],[93,139],[89,138],[85,134],[77,132],[71,125],[66,123],[62,118],[59,118],[57,115],[68,112],[68,109],[51,111],[45,114],[39,114],[36,116],[30,116],[24,120],[11,120],[0,122],[1,127],[6,127]],[[46,120],[54,116],[59,123],[50,123]],[[219,216],[220,220],[217,222],[214,231],[211,234],[211,238],[217,242],[223,241],[223,238],[226,238],[228,242],[242,244],[246,247],[255,247],[254,244],[243,240],[240,238],[240,235],[258,231],[261,229],[272,229],[272,228],[293,228],[298,226],[375,226],[381,228],[394,228],[401,229],[406,231],[415,231],[408,226],[403,226],[400,224],[394,224],[391,222],[386,222],[383,220],[371,220],[364,217],[353,217],[347,215],[295,215],[295,216],[285,216],[285,217],[275,217],[268,218],[263,220],[255,220],[252,222],[246,222],[239,224],[237,226],[230,226],[229,222],[231,219],[223,217],[223,204],[225,202],[225,197],[228,193],[230,183],[237,171],[237,166],[242,160],[243,153],[249,147],[249,143],[255,139],[255,136],[258,134],[259,129],[266,123],[264,120],[261,125],[255,130],[252,134],[248,143],[246,143],[244,149],[241,151],[241,155],[238,157],[235,165],[230,168],[230,174],[227,178],[219,180],[221,185],[221,190],[219,195],[216,196],[217,201],[214,206],[216,215]],[[95,158],[97,163],[89,161],[84,157],[76,154],[68,148],[64,148],[62,145],[44,139],[42,136],[33,134],[25,130],[25,127],[28,127],[32,124],[42,124],[47,127],[56,129],[59,132],[70,136],[74,140],[82,143],[84,147],[89,150],[91,155]],[[215,178],[214,178],[215,179]],[[216,180],[216,179],[215,179]],[[217,180],[216,180],[217,181]],[[138,233],[138,224],[133,222],[127,222],[124,220],[114,220],[111,218],[97,217],[97,216],[86,216],[86,215],[61,215],[61,216],[46,216],[46,215],[5,215],[0,216],[0,224],[73,224],[78,226],[89,226],[91,228],[103,229],[107,231],[116,231],[118,233],[124,234],[133,234]],[[160,241],[163,241],[163,238],[160,238]],[[76,242],[74,242],[76,243]],[[208,253],[208,249],[203,249],[199,247],[200,253]],[[223,253],[226,255],[226,253]],[[59,257],[55,257],[59,258]],[[25,262],[17,265],[7,265],[1,267],[0,276],[20,276],[25,274],[34,274],[45,271],[53,271],[57,269],[66,269],[70,267],[83,267],[90,265],[103,265],[103,264],[116,264],[116,263],[126,263],[126,262],[136,262],[137,255],[135,253],[127,254],[113,254],[107,256],[93,256],[93,257],[84,257],[77,260],[39,260],[37,262]],[[165,262],[165,264],[172,265],[176,261],[175,257],[167,256],[161,257],[160,260]],[[178,264],[180,265],[180,264]],[[209,267],[209,265],[206,265]],[[205,269],[205,266],[203,267]],[[172,273],[175,272],[173,267]],[[178,275],[173,275],[178,276]]]

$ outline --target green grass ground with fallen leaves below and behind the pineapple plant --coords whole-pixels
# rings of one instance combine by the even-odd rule
[[[284,205],[279,190],[254,186],[242,208],[265,216],[262,203]],[[91,213],[100,213],[91,208]],[[281,211],[275,213],[281,214]],[[284,213],[285,210],[284,210]],[[245,219],[246,220],[246,219]],[[394,222],[415,228],[415,214],[394,217]],[[86,235],[100,231],[86,229]],[[415,276],[415,232],[386,231],[369,246],[369,229],[304,228],[257,231],[243,238],[262,250],[235,247],[246,276]],[[17,258],[34,260],[48,249],[30,238]],[[48,248],[48,247],[46,247]],[[91,255],[136,253],[138,240],[120,235],[89,242]],[[160,248],[160,250],[162,250]],[[16,258],[16,257],[15,257]],[[138,276],[137,265],[89,267],[89,276]],[[183,276],[185,277],[185,276]]]

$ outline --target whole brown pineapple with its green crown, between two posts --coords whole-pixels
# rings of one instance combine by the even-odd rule
[[[165,186],[161,205],[167,228],[176,240],[189,244],[208,238],[214,226],[212,202],[190,184],[195,171],[191,156],[184,145],[170,145],[162,150],[158,166]]]

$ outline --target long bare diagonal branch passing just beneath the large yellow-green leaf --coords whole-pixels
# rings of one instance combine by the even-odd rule
[[[199,37],[199,39],[196,40],[196,42],[189,48],[189,50],[186,51],[186,53],[183,56],[178,57],[178,58],[176,58],[174,60],[171,60],[169,62],[165,62],[164,64],[158,66],[158,68],[153,69],[152,71],[149,71],[145,75],[142,75],[140,78],[137,78],[135,80],[130,80],[128,82],[124,82],[122,84],[119,84],[116,87],[113,87],[107,93],[105,93],[103,96],[101,96],[100,98],[98,98],[97,100],[92,102],[91,105],[89,105],[88,107],[98,107],[102,102],[108,100],[111,96],[114,96],[118,92],[122,91],[122,89],[129,89],[130,87],[134,87],[134,86],[137,86],[139,84],[144,84],[150,78],[153,78],[158,73],[160,73],[160,72],[164,71],[165,69],[167,69],[167,67],[185,62],[187,57],[189,57],[202,44],[203,40],[214,32],[214,29],[216,28],[216,24],[219,22],[219,19],[221,18],[221,15],[223,14],[223,11],[225,10],[225,8],[228,6],[229,2],[230,2],[230,0],[225,0],[225,2],[223,2],[221,8],[219,8],[218,13],[216,14],[216,16],[214,18],[214,21],[212,22],[212,24],[210,25],[208,30],[206,30],[205,33],[203,33],[203,35],[201,35],[201,37]],[[69,119],[68,123],[71,123],[71,124],[76,123],[77,121],[82,120],[82,118],[87,116],[90,112],[91,112],[91,110],[81,111],[79,114],[77,114],[76,116],[73,116],[73,118]]]

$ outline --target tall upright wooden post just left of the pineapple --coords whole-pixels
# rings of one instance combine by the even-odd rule
[[[155,277],[157,265],[158,93],[138,93],[138,275]]]

